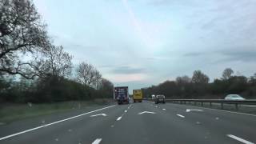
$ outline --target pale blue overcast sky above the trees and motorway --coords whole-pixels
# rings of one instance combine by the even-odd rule
[[[56,45],[116,86],[256,72],[254,0],[34,0]]]

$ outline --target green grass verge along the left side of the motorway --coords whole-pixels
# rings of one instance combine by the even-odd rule
[[[4,103],[0,106],[0,125],[23,118],[33,118],[41,115],[80,110],[88,106],[106,105],[110,102],[112,102],[110,99],[100,98],[90,101],[68,101],[41,104]]]

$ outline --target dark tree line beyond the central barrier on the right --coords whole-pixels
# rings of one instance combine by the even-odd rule
[[[158,86],[142,89],[143,94],[150,98],[152,94],[165,94],[166,98],[225,98],[226,94],[241,94],[244,98],[256,98],[256,73],[250,78],[234,75],[231,68],[226,68],[222,78],[214,79],[195,70],[192,78],[177,77],[175,81],[166,81]]]

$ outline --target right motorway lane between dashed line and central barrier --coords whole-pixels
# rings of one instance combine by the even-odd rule
[[[255,115],[237,114],[236,112],[211,110],[198,106],[184,106],[171,103],[166,103],[164,107],[166,109],[172,109],[177,113],[182,113],[190,122],[199,122],[200,126],[207,128],[211,133],[221,134],[222,136],[220,135],[218,138],[226,136],[226,134],[234,134],[251,142],[256,142]],[[187,109],[203,111],[186,112]]]

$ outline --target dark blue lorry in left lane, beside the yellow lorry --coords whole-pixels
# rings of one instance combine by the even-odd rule
[[[114,87],[114,99],[117,100],[118,105],[129,104],[128,86]]]

